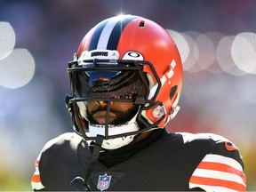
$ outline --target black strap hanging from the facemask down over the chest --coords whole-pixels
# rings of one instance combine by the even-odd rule
[[[99,156],[100,156],[100,150],[101,150],[101,145],[104,140],[104,137],[101,135],[97,135],[95,143],[94,143],[94,148],[92,151],[92,159],[87,167],[86,174],[84,179],[81,177],[76,177],[74,180],[72,180],[69,184],[71,190],[75,191],[90,191],[91,188],[88,185],[88,180],[92,174],[92,171],[94,169],[94,165],[97,162]]]

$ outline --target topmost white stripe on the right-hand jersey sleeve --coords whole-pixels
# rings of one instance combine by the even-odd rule
[[[240,172],[243,172],[243,167],[241,164],[239,164],[235,159],[229,158],[226,156],[208,154],[208,155],[204,156],[204,159],[202,160],[202,162],[228,164],[229,166],[232,166],[233,168],[239,170]]]

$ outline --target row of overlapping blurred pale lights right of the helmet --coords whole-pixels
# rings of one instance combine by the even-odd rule
[[[233,76],[256,73],[256,34],[252,32],[225,36],[217,31],[168,31],[180,50],[185,71],[206,70]]]

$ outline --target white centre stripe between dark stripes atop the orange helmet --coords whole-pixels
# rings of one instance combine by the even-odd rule
[[[107,49],[108,46],[108,37],[111,35],[113,28],[115,28],[116,23],[119,20],[109,20],[107,25],[103,28],[100,39],[97,45],[97,49]]]

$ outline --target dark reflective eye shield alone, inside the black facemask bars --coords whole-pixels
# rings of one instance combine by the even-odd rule
[[[142,82],[137,72],[82,71],[74,73],[73,77],[76,95],[81,98],[131,101],[142,92]]]

